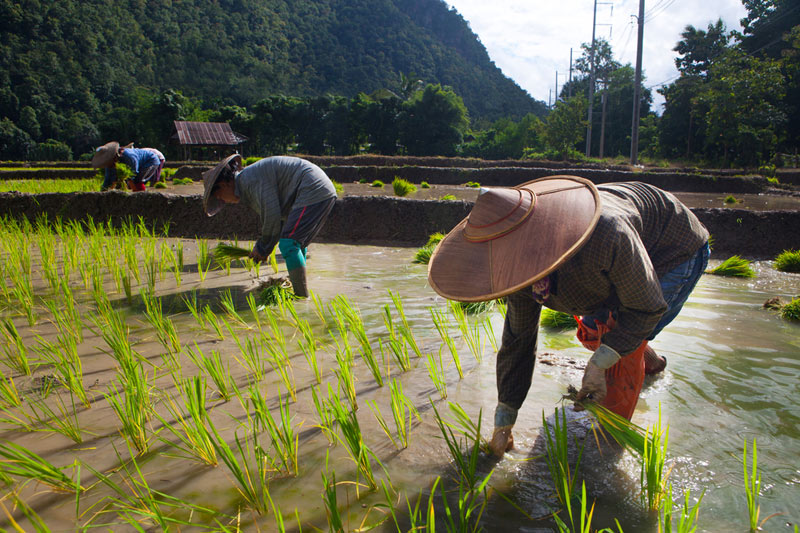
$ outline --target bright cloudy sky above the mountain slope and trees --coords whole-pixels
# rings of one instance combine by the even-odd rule
[[[545,103],[569,77],[582,43],[592,40],[593,0],[445,0],[478,35],[489,57],[509,78]],[[611,44],[614,59],[636,65],[639,0],[597,0],[595,36]],[[663,98],[656,92],[678,77],[676,53],[681,33],[691,24],[705,30],[721,18],[728,30],[741,30],[746,14],[741,0],[645,0],[642,72],[653,94],[654,111]],[[551,95],[552,91],[552,95]]]

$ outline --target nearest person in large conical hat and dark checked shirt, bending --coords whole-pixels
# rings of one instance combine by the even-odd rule
[[[552,176],[481,190],[470,215],[434,251],[428,280],[452,300],[507,297],[492,452],[502,456],[513,447],[543,305],[582,315],[578,338],[594,353],[578,399],[630,420],[645,373],[666,365],[648,341],[678,314],[708,253],[708,232],[697,217],[644,183],[595,187]]]

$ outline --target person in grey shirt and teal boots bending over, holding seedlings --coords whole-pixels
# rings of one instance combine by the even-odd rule
[[[321,168],[297,157],[267,157],[242,169],[228,156],[203,173],[203,209],[214,216],[224,204],[243,203],[261,220],[250,257],[266,260],[275,244],[297,296],[308,297],[306,251],[336,202],[336,189]]]

